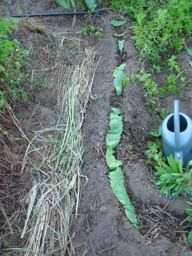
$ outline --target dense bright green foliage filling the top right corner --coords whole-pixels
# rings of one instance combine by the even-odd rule
[[[179,52],[192,33],[191,0],[111,0],[111,8],[136,21],[132,27],[135,46],[140,57],[150,59],[157,70],[163,64],[161,53]]]

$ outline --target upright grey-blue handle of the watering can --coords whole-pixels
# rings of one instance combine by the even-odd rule
[[[176,146],[180,144],[180,118],[179,118],[179,101],[174,101],[174,140]]]

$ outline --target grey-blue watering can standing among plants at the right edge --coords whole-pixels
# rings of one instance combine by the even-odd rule
[[[192,160],[192,120],[179,112],[179,101],[174,101],[174,113],[163,121],[161,130],[165,157],[172,154],[185,167]]]

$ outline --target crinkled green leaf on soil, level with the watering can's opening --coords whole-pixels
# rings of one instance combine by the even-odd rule
[[[120,109],[111,108],[110,114],[110,129],[106,135],[106,144],[116,148],[121,139],[123,131],[122,116]]]

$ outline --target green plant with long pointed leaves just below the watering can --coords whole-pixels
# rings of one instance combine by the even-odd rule
[[[172,199],[178,198],[182,193],[190,196],[192,193],[192,170],[182,168],[182,162],[174,161],[172,155],[167,157],[168,164],[158,160],[159,166],[155,166],[155,177],[151,179],[156,187],[161,188],[160,197],[165,194]]]

